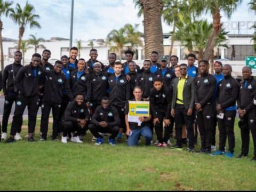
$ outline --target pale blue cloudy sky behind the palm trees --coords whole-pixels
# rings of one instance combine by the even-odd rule
[[[14,0],[22,7],[27,0]],[[44,39],[51,37],[69,38],[71,0],[28,0],[35,6],[36,14],[40,15],[38,22],[41,29],[26,28],[24,38],[30,34]],[[256,14],[249,11],[249,0],[243,3],[228,19],[222,14],[222,21],[256,21]],[[13,6],[14,6],[13,5]],[[143,17],[137,17],[133,0],[75,0],[74,6],[74,34],[73,39],[106,38],[113,29],[119,29],[126,23],[139,24],[139,31],[143,32]],[[210,15],[203,18],[211,21]],[[10,18],[3,18],[3,37],[18,39],[19,27]],[[163,32],[169,33],[171,27],[163,21]],[[246,32],[245,32],[246,33]],[[249,32],[250,33],[250,32]]]

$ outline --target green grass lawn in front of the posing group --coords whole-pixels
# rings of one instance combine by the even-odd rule
[[[38,140],[39,121],[36,130]],[[241,138],[235,130],[238,155]],[[249,158],[229,159],[143,144],[95,146],[87,133],[82,145],[50,138],[0,143],[0,190],[256,190],[252,140]]]

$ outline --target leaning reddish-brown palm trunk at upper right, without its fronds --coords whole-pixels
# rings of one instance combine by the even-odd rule
[[[218,38],[218,35],[221,33],[221,15],[219,10],[217,10],[214,14],[213,14],[213,26],[212,26],[212,32],[210,35],[210,38],[207,42],[205,51],[203,53],[203,59],[205,60],[209,60],[212,54],[212,51],[214,49],[214,47],[216,46],[216,40]]]

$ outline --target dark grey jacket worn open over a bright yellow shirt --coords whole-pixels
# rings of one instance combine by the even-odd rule
[[[173,81],[173,94],[172,94],[172,109],[175,108],[177,101],[177,86],[180,78],[175,78]],[[195,78],[187,76],[183,89],[183,103],[186,109],[193,109],[194,104],[194,91],[195,91]]]

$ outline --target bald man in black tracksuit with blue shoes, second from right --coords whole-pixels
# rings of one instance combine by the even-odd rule
[[[224,65],[222,73],[224,79],[219,83],[217,88],[216,111],[219,114],[218,127],[220,132],[219,150],[213,155],[225,154],[225,145],[228,137],[229,151],[227,157],[234,157],[235,133],[234,123],[236,117],[236,100],[239,94],[239,85],[236,79],[231,77],[232,67]],[[221,117],[224,114],[224,117]]]

